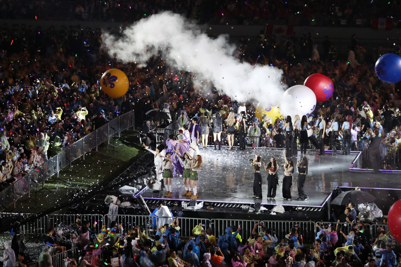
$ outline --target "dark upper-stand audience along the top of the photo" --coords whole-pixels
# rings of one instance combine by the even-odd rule
[[[391,18],[399,25],[397,1],[3,1],[2,18],[41,20],[89,20],[134,22],[169,10],[201,23],[264,24],[282,19],[282,23],[303,26],[371,26],[372,18]],[[358,21],[357,21],[358,20]]]

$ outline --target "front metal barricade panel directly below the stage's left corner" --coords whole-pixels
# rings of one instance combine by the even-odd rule
[[[158,230],[156,216],[106,214],[103,218],[106,227],[109,227],[113,220],[118,224],[122,223],[125,233],[128,233],[128,230],[130,229],[134,229],[137,225],[143,227],[143,230],[149,235],[156,235]]]

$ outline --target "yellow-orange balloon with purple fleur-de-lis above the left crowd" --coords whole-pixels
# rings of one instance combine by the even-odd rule
[[[100,85],[109,97],[119,98],[127,93],[130,83],[124,72],[119,69],[109,69],[100,78]]]

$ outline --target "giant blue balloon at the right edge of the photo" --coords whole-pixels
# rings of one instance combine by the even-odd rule
[[[375,72],[377,77],[385,83],[401,81],[401,57],[395,54],[385,54],[376,61]]]

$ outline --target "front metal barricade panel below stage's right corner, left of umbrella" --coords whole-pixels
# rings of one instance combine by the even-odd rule
[[[316,237],[316,226],[314,222],[308,221],[264,221],[265,227],[275,231],[277,239],[280,241],[285,239],[285,236],[291,233],[291,229],[298,225],[298,239],[301,238],[304,242],[311,242]]]

